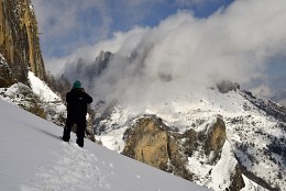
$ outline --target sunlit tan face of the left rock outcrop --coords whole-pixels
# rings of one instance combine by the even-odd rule
[[[129,142],[123,154],[160,169],[166,169],[169,159],[168,134],[158,126],[157,119],[141,119],[125,135]]]

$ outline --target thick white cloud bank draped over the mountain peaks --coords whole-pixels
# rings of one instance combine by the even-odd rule
[[[121,59],[95,81],[98,99],[158,100],[222,78],[252,87],[266,78],[272,58],[286,56],[285,10],[285,0],[249,0],[234,1],[207,19],[179,11],[156,27],[118,33],[77,50],[62,64],[92,58],[101,49],[117,53]],[[122,59],[134,53],[132,61]]]

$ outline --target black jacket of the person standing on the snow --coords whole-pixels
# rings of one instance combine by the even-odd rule
[[[92,98],[88,96],[84,89],[72,89],[66,94],[67,102],[67,119],[78,120],[86,117],[87,104],[92,102]]]

